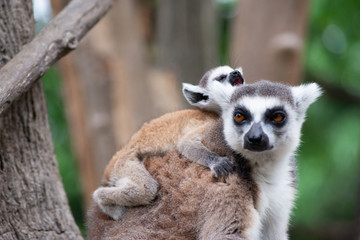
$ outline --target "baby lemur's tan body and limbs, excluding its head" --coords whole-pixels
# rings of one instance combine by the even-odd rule
[[[158,183],[141,161],[148,156],[161,156],[179,150],[188,160],[208,167],[212,164],[216,171],[224,169],[222,164],[230,168],[227,159],[210,152],[199,141],[202,132],[217,119],[219,116],[215,113],[183,110],[144,124],[109,162],[102,187],[93,194],[94,201],[104,213],[118,220],[125,206],[138,206],[153,200]]]

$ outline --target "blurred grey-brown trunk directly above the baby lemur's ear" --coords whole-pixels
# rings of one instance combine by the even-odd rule
[[[210,0],[158,1],[157,66],[174,72],[179,83],[197,84],[218,64],[217,10]]]

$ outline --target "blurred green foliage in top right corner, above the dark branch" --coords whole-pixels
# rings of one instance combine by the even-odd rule
[[[360,1],[310,1],[306,71],[359,93]]]

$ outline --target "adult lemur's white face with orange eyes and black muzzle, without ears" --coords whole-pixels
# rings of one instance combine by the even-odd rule
[[[294,110],[277,97],[243,97],[224,114],[225,138],[238,152],[271,151],[299,136]]]

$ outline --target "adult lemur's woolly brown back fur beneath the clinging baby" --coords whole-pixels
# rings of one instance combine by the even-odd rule
[[[147,158],[147,169],[160,184],[156,200],[129,208],[120,221],[94,205],[88,214],[88,239],[248,239],[257,187],[247,161],[220,141],[220,127],[220,121],[213,125],[205,145],[227,155],[236,174],[218,180],[175,151],[162,158]]]

